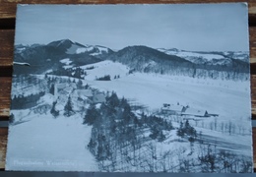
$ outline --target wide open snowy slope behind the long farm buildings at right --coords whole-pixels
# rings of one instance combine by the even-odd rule
[[[114,90],[120,97],[136,99],[150,109],[160,109],[162,103],[179,102],[181,105],[233,117],[234,120],[237,117],[250,116],[250,86],[246,82],[208,81],[136,73],[110,82],[85,83],[96,89]]]

